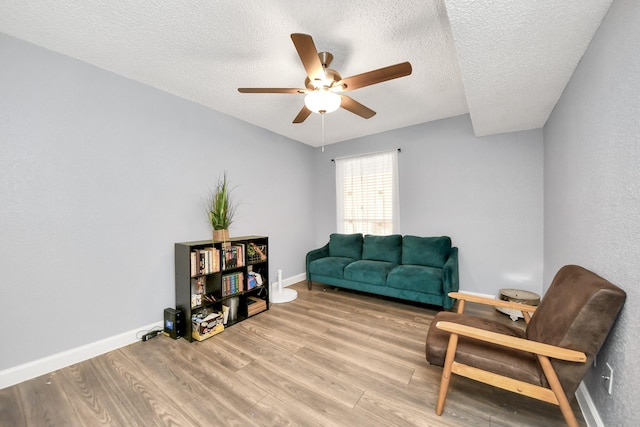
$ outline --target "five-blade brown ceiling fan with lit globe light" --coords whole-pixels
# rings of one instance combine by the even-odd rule
[[[312,112],[325,114],[340,107],[362,118],[369,119],[376,114],[375,111],[341,93],[411,74],[411,64],[402,62],[343,79],[337,71],[329,68],[333,55],[329,52],[318,53],[310,35],[294,33],[291,34],[291,40],[293,40],[302,65],[307,72],[304,89],[241,87],[238,88],[238,91],[241,93],[306,94],[305,105],[293,119],[293,123],[304,122]]]

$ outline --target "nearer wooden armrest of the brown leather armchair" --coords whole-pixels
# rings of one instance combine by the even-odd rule
[[[539,354],[541,356],[551,357],[553,359],[567,360],[569,362],[581,362],[587,361],[587,356],[576,350],[570,350],[568,348],[557,347],[554,345],[543,344],[537,341],[530,341],[523,338],[512,337],[510,335],[503,335],[496,332],[487,331],[484,329],[474,328],[472,326],[460,325],[453,322],[440,321],[436,323],[438,329],[450,332],[452,334],[458,334],[469,338],[478,339],[493,344],[498,344],[504,347],[510,347],[517,350],[528,351],[530,353]]]

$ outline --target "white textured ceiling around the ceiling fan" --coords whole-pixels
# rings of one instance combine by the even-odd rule
[[[291,33],[342,77],[409,61],[413,73],[350,92],[377,114],[325,116],[325,144],[470,113],[476,135],[544,126],[612,0],[0,0],[0,32],[311,146]]]

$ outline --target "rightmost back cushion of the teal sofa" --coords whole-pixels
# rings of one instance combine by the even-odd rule
[[[451,238],[404,236],[402,239],[402,264],[444,267],[451,252]]]

